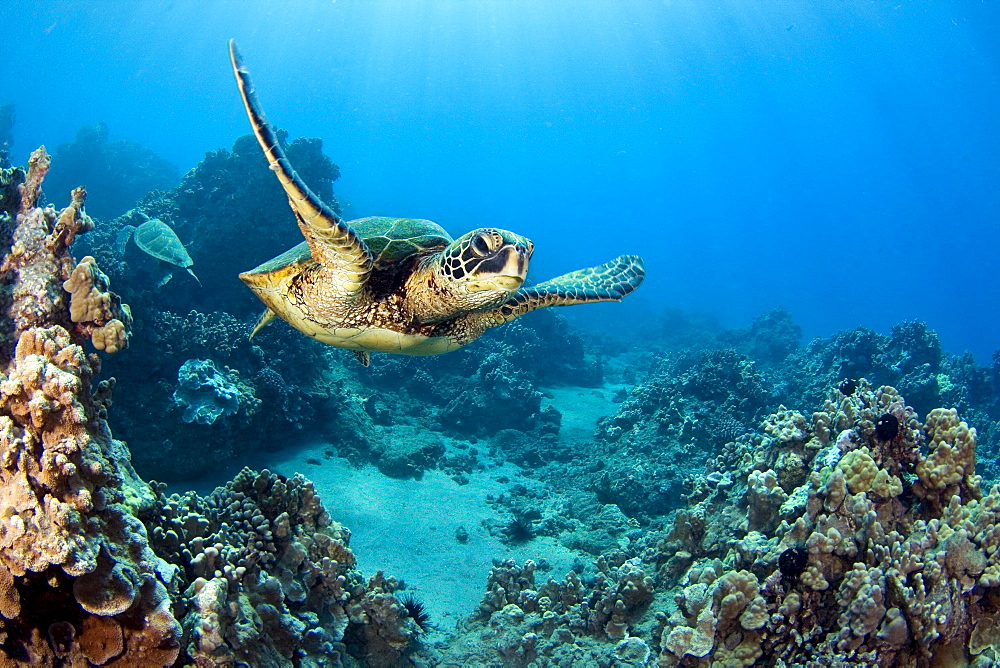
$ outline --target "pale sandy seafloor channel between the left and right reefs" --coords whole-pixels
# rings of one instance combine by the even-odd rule
[[[563,443],[583,446],[593,441],[598,420],[617,409],[611,398],[621,387],[541,388],[546,395],[543,408],[551,404],[562,414]],[[208,494],[242,466],[289,477],[302,473],[315,484],[331,518],[350,529],[351,549],[364,577],[383,570],[403,580],[407,590],[424,602],[432,625],[442,635],[475,612],[494,559],[514,559],[519,564],[544,559],[551,570],[541,574],[543,581],[549,575],[563,578],[581,558],[587,563],[593,560],[553,537],[536,536],[524,544],[508,545],[490,535],[483,523],[505,523],[508,516],[487,503],[487,496],[508,491],[521,476],[517,466],[493,464],[466,474],[468,484],[460,485],[437,470],[425,471],[419,480],[392,478],[371,464],[359,468],[340,457],[326,458],[329,449],[329,443],[313,440],[283,446],[267,456],[253,453],[239,466],[220,468],[212,478],[173,483],[168,490]],[[455,537],[459,526],[468,532],[464,544]],[[428,634],[424,642],[438,640],[435,635]]]

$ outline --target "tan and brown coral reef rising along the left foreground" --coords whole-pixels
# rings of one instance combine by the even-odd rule
[[[309,481],[244,470],[207,497],[168,498],[135,474],[106,422],[114,383],[93,383],[101,359],[84,350],[125,307],[69,253],[90,225],[82,189],[61,212],[35,206],[48,160],[39,149],[0,184],[17,192],[0,214],[0,661],[400,665],[420,620],[394,579],[361,578]],[[188,371],[232,398],[234,375]]]

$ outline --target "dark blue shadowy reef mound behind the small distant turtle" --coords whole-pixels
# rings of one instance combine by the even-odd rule
[[[284,141],[286,133],[279,136]],[[298,138],[286,152],[313,192],[339,211],[332,183],[340,172],[323,154],[322,142]],[[156,259],[135,244],[117,243],[126,226],[138,227],[148,220],[160,220],[176,233],[193,258],[204,289],[193,280],[161,285],[163,272]],[[145,194],[129,211],[96,230],[84,250],[111,272],[116,285],[127,281],[123,294],[134,307],[144,307],[146,301],[137,293],[153,293],[157,296],[149,300],[149,307],[157,311],[184,314],[197,303],[201,312],[228,311],[243,320],[260,314],[260,302],[236,276],[273,257],[275,249],[301,242],[292,223],[281,185],[267,168],[256,140],[247,135],[236,140],[232,151],[208,153],[171,190]],[[113,271],[111,260],[116,264]]]

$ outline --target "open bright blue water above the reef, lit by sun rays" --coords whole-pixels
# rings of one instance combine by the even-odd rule
[[[1000,347],[995,2],[4,0],[0,25],[15,162],[99,121],[182,171],[231,146],[235,37],[348,217],[513,229],[539,280],[643,254],[622,310],[578,310],[598,326],[784,305],[807,336]]]

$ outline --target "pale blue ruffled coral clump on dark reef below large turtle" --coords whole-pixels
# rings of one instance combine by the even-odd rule
[[[246,386],[239,386],[236,372],[227,369],[223,373],[212,360],[190,359],[177,371],[174,401],[184,409],[185,422],[212,424],[220,417],[235,415],[241,406],[257,398]]]

